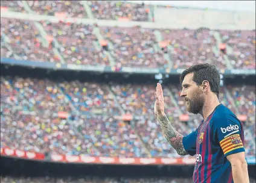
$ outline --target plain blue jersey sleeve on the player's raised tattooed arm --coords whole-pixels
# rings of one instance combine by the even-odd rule
[[[197,137],[197,129],[196,131],[191,132],[187,136],[184,136],[182,139],[184,149],[191,156],[196,155],[196,137]]]

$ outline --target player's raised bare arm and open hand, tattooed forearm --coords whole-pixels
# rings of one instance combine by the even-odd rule
[[[171,122],[168,120],[167,116],[164,113],[164,94],[162,92],[161,84],[158,83],[156,86],[155,92],[155,107],[154,113],[158,122],[160,124],[161,130],[164,134],[164,137],[168,140],[168,142],[173,146],[173,148],[177,151],[179,155],[187,155],[188,153],[184,149],[182,139],[183,135],[177,132],[173,126],[171,126]]]

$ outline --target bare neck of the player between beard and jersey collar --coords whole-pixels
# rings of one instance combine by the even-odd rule
[[[208,116],[215,110],[215,108],[220,105],[219,99],[216,95],[209,97],[205,100],[205,104],[203,105],[203,110],[200,113],[203,117],[203,120],[206,120]]]

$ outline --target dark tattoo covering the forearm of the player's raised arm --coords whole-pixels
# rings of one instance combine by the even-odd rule
[[[157,116],[156,118],[158,119],[164,137],[171,144],[171,146],[173,146],[177,153],[179,155],[188,155],[182,144],[182,138],[184,136],[177,132],[173,126],[171,126],[171,122],[168,120],[167,116]]]

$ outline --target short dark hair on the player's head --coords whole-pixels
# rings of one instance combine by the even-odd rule
[[[207,80],[210,83],[211,92],[216,93],[219,98],[220,73],[213,64],[203,63],[188,67],[179,77],[181,84],[188,73],[194,73],[193,81],[196,82],[197,85],[201,85],[203,80]]]

